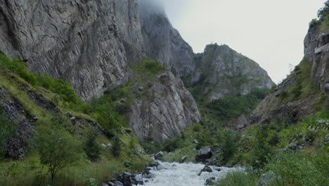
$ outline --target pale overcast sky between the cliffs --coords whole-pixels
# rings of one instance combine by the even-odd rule
[[[167,15],[193,47],[228,44],[267,70],[274,82],[304,56],[309,22],[325,0],[161,0]]]

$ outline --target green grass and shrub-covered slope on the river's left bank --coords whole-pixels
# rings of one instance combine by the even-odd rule
[[[141,66],[136,68],[147,68],[153,76],[164,69],[154,61]],[[1,53],[0,86],[8,92],[1,99],[17,100],[27,118],[39,120],[32,123],[33,137],[25,139],[30,144],[25,158],[1,159],[0,185],[89,185],[90,178],[98,185],[115,173],[142,171],[152,161],[126,128],[125,113],[135,99],[132,85],[85,103],[65,80],[30,73],[24,63]],[[14,123],[0,109],[1,158]],[[102,143],[112,147],[101,148]]]

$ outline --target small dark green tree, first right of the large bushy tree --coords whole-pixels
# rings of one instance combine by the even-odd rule
[[[96,161],[101,155],[101,145],[96,141],[96,132],[90,131],[84,141],[84,152],[91,161]]]

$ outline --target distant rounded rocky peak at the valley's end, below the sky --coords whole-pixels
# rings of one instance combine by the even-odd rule
[[[202,84],[208,101],[227,94],[248,94],[253,88],[271,88],[273,81],[256,62],[227,45],[209,44],[195,59],[193,83]]]

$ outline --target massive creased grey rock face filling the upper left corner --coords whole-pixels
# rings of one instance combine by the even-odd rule
[[[34,72],[69,80],[86,100],[97,97],[124,82],[127,74],[115,4],[113,0],[1,0],[0,49],[26,61]],[[124,10],[120,8],[124,5],[120,1],[117,9]],[[138,40],[130,38],[128,31],[124,35],[131,42]]]

